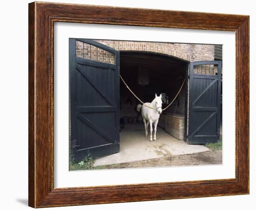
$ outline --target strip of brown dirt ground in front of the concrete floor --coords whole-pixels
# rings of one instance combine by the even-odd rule
[[[207,151],[191,155],[167,155],[163,158],[142,160],[132,163],[98,166],[95,167],[95,169],[144,168],[209,164],[222,164],[222,150]]]

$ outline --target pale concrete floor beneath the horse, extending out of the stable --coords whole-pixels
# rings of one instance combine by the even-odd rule
[[[157,127],[156,139],[150,142],[149,136],[145,137],[143,123],[126,124],[120,132],[120,152],[95,159],[94,166],[161,158],[167,154],[184,155],[209,151],[203,145],[178,140],[160,127]]]

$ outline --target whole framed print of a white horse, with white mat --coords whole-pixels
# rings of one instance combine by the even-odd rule
[[[249,193],[249,16],[29,4],[29,206]]]

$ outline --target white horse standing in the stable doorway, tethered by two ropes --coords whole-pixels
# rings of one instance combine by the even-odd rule
[[[142,109],[141,109],[142,107]],[[151,108],[149,108],[151,107]],[[148,137],[148,123],[150,125],[150,141],[152,141],[152,124],[154,124],[155,127],[155,135],[154,140],[156,140],[156,128],[157,123],[160,117],[160,114],[162,113],[162,94],[160,96],[157,96],[155,94],[155,99],[151,103],[145,103],[143,105],[137,105],[137,111],[140,112],[143,117],[143,122],[145,125],[145,131],[146,131],[146,137]]]

